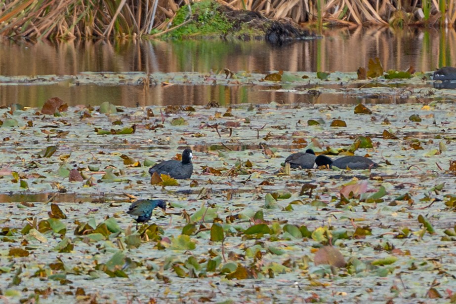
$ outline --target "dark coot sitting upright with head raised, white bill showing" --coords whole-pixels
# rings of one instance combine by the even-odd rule
[[[178,160],[166,160],[161,163],[156,164],[155,166],[149,169],[150,175],[157,172],[159,174],[167,174],[175,179],[188,179],[192,176],[193,173],[193,164],[192,164],[192,150],[185,149],[182,152],[182,161]]]

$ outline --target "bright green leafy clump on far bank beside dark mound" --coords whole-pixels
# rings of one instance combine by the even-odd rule
[[[220,37],[226,35],[233,24],[221,13],[220,4],[204,0],[191,5],[193,16],[190,16],[188,5],[182,6],[172,22],[172,26],[182,24],[189,18],[193,21],[170,32],[166,38]]]

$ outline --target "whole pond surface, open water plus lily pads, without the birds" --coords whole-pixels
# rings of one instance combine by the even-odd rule
[[[339,29],[283,48],[0,41],[0,106],[32,107],[0,107],[1,297],[455,302],[456,91],[419,72],[453,66],[454,40]],[[372,57],[418,72],[357,80]],[[277,70],[282,81],[264,80]],[[52,97],[70,107],[42,114]],[[72,107],[106,101],[120,107]],[[192,180],[156,184],[149,167],[184,147]],[[309,147],[381,167],[283,167]],[[166,213],[137,228],[133,196],[165,199]],[[327,244],[346,267],[320,263]]]

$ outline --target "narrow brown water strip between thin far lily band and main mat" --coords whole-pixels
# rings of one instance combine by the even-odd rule
[[[72,86],[60,85],[0,85],[0,105],[19,103],[28,107],[41,107],[51,97],[59,97],[69,106],[98,106],[108,101],[125,107],[151,105],[206,105],[216,101],[222,106],[230,104],[357,104],[357,103],[406,103],[414,102],[400,95],[349,95],[319,93],[318,91],[267,90],[264,86],[225,85],[171,85],[152,86]]]

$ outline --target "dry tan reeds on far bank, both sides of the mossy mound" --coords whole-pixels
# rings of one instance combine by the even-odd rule
[[[218,0],[269,18],[320,25],[432,25],[453,27],[456,0]],[[0,35],[29,38],[131,37],[166,30],[190,0],[4,0]],[[418,3],[418,4],[417,4]]]

